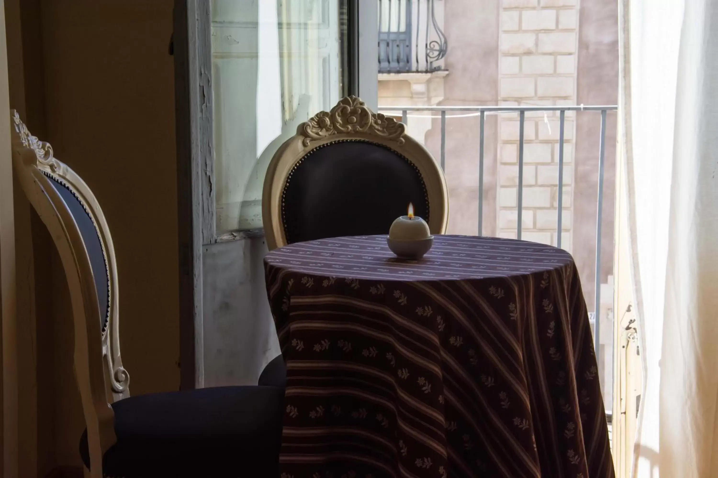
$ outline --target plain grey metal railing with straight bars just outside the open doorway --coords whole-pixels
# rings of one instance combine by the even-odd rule
[[[409,112],[416,112],[416,115],[423,116],[429,113],[432,117],[441,118],[441,146],[439,153],[439,161],[441,163],[442,170],[446,163],[446,121],[447,118],[458,118],[466,116],[479,116],[479,151],[478,151],[478,168],[479,168],[479,193],[478,193],[478,220],[479,226],[477,234],[482,234],[482,221],[483,221],[483,191],[484,191],[484,132],[485,132],[485,120],[486,115],[503,114],[503,113],[518,113],[518,185],[516,188],[516,207],[517,207],[517,226],[516,226],[516,237],[521,239],[522,221],[521,214],[523,209],[523,125],[526,118],[526,113],[547,113],[558,111],[559,112],[559,180],[558,180],[558,198],[557,198],[557,214],[558,214],[558,226],[556,227],[556,242],[557,246],[561,247],[561,231],[563,219],[563,186],[564,186],[564,128],[566,124],[566,112],[567,111],[594,111],[599,112],[601,115],[601,129],[600,129],[600,140],[598,150],[598,199],[597,199],[597,219],[596,219],[596,274],[595,274],[595,310],[589,313],[589,318],[593,317],[592,325],[594,326],[594,343],[596,359],[599,359],[599,338],[600,338],[600,320],[595,320],[595,317],[600,317],[600,305],[601,305],[601,216],[603,209],[603,177],[605,168],[605,140],[606,140],[606,114],[608,111],[617,110],[618,107],[615,105],[606,106],[380,106],[379,111],[385,114],[398,115],[401,112],[401,122],[406,124],[409,116]],[[436,114],[438,113],[438,116]],[[447,115],[447,113],[453,113]]]

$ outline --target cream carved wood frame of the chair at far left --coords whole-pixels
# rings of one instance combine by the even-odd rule
[[[31,135],[11,110],[10,132],[15,176],[62,259],[75,322],[75,377],[82,398],[93,478],[102,477],[102,456],[116,442],[110,403],[129,396],[129,375],[122,367],[118,330],[118,286],[115,252],[105,216],[87,184],[52,156],[52,146]],[[108,323],[102,330],[100,306],[90,257],[80,229],[53,178],[80,200],[95,224],[108,272]],[[69,378],[68,378],[69,379]]]

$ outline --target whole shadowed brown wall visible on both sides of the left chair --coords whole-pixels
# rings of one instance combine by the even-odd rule
[[[131,393],[177,390],[174,68],[167,50],[173,2],[20,4],[25,91],[18,95],[16,88],[15,98],[27,106],[30,130],[83,177],[106,214],[116,248],[121,350]],[[17,39],[10,48],[21,48]],[[25,440],[30,446],[34,441],[37,454],[37,468],[27,469],[27,476],[45,476],[58,466],[80,464],[84,424],[72,371],[67,285],[37,218],[32,229],[34,285],[42,298],[34,305],[32,338],[37,383],[27,393],[34,386],[39,398],[34,410],[25,411],[26,425],[37,434]]]

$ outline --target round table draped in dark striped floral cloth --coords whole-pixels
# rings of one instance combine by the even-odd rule
[[[571,255],[386,236],[265,259],[287,365],[282,477],[613,477],[587,309]]]

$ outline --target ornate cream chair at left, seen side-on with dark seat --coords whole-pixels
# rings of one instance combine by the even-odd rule
[[[115,253],[83,180],[11,112],[14,171],[49,229],[75,321],[75,375],[87,429],[85,476],[276,476],[284,389],[202,388],[129,396],[118,330]],[[91,465],[91,466],[90,466]]]

